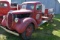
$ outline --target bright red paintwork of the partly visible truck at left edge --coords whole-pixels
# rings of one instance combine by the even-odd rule
[[[6,7],[0,7],[0,24],[1,24],[1,21],[3,19],[3,15],[7,15],[7,13],[10,11],[10,10],[20,10],[20,5],[18,5],[18,7],[13,7],[11,8],[11,5],[8,1],[6,0],[0,0],[0,3],[4,3],[6,4],[7,6]]]

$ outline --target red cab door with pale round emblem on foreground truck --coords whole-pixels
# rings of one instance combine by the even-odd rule
[[[36,21],[37,24],[40,24],[42,21],[42,5],[41,4],[36,4]]]

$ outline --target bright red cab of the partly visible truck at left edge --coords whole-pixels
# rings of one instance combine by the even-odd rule
[[[0,24],[3,19],[3,15],[6,15],[9,10],[9,3],[7,1],[0,1]]]

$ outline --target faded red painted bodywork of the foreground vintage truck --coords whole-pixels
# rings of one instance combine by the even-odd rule
[[[14,20],[14,18],[13,18],[13,15],[9,18],[9,15],[10,14],[8,14],[7,15],[7,17],[6,18],[8,18],[8,19],[3,19],[3,21],[2,21],[2,25],[3,26],[7,26],[7,28],[9,29],[10,28],[10,30],[15,30],[15,31],[17,31],[18,33],[23,33],[25,30],[26,30],[26,28],[27,28],[27,26],[30,24],[30,23],[33,23],[34,24],[34,28],[35,29],[37,29],[38,28],[38,25],[39,24],[41,24],[41,22],[43,21],[43,19],[42,19],[42,10],[36,10],[36,6],[38,5],[38,4],[40,4],[40,6],[41,6],[41,3],[39,3],[39,2],[36,2],[36,3],[27,3],[27,4],[33,4],[34,5],[34,9],[33,10],[30,10],[30,9],[26,9],[26,10],[30,10],[30,11],[26,11],[26,10],[24,10],[24,11],[22,11],[21,12],[21,10],[19,11],[19,10],[17,10],[17,11],[15,11],[15,12],[11,12],[12,14],[15,14],[15,15],[17,15],[17,14],[25,14],[25,13],[30,13],[31,15],[30,15],[30,17],[25,17],[25,18],[20,18],[20,19],[18,19],[19,21],[16,23]],[[44,13],[44,16],[47,16],[47,17],[50,17],[50,16],[48,16],[48,15],[50,15],[50,14],[48,14],[48,9],[46,9],[45,10],[45,13]],[[44,19],[45,20],[45,19]],[[6,22],[5,22],[6,21]],[[48,21],[48,20],[47,20]],[[8,24],[8,22],[9,22],[9,24]],[[5,23],[7,23],[7,24],[5,24]],[[28,30],[30,30],[31,31],[31,29],[27,29],[27,31]],[[28,33],[29,32],[27,32],[27,36],[29,36],[28,35]]]

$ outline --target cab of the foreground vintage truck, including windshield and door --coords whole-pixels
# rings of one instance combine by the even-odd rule
[[[41,22],[41,16],[42,16],[42,5],[40,2],[24,2],[22,3],[22,9],[30,10],[32,11],[31,17],[34,18],[37,22],[37,24],[40,24]]]

